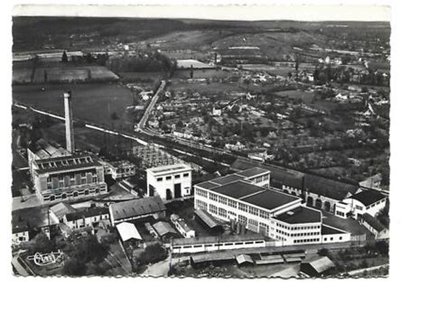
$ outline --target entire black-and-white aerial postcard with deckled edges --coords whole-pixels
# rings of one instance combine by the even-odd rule
[[[15,276],[388,277],[390,7],[15,9]]]

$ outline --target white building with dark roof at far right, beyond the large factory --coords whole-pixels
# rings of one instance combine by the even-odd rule
[[[335,215],[342,218],[353,217],[358,219],[364,214],[375,217],[386,207],[387,197],[374,189],[363,190],[347,199],[336,203]]]

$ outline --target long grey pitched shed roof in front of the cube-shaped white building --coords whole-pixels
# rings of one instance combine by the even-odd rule
[[[110,204],[111,214],[115,220],[150,215],[165,209],[165,205],[159,196]]]

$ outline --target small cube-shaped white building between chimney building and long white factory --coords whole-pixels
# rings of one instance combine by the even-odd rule
[[[147,172],[147,193],[161,199],[180,199],[191,195],[191,166],[184,163],[154,167]]]

